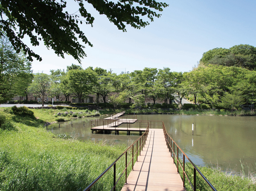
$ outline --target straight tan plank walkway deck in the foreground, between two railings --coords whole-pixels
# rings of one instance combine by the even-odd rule
[[[166,146],[163,129],[149,129],[145,147],[127,183],[122,191],[186,191]]]

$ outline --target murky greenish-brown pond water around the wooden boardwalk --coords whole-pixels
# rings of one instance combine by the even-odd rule
[[[106,140],[108,144],[137,140],[138,134],[92,134],[90,120],[105,117],[87,117],[72,122],[49,126],[54,134],[76,135],[81,140]],[[241,171],[241,162],[255,171],[256,117],[196,116],[196,115],[138,115],[138,120],[161,120],[167,132],[196,165],[218,164],[222,169]],[[71,127],[73,123],[73,128]],[[194,135],[192,136],[192,123]],[[84,126],[83,126],[84,124]],[[153,128],[153,126],[152,126]],[[158,126],[157,128],[161,128]]]

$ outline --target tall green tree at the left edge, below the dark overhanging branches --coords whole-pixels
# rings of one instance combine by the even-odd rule
[[[25,96],[32,77],[31,63],[23,52],[17,54],[9,40],[0,37],[0,104],[16,95]]]

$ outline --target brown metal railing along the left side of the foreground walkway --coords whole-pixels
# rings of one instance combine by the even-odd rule
[[[101,175],[99,175],[99,177],[97,177],[87,188],[84,189],[84,191],[90,191],[90,189],[93,187],[93,185],[96,184],[96,182],[98,182],[103,176],[104,174],[106,174],[112,167],[113,167],[113,187],[111,188],[111,191],[116,191],[116,184],[118,183],[118,181],[120,180],[120,178],[122,177],[122,175],[125,173],[125,183],[127,183],[127,168],[130,165],[130,163],[132,162],[132,170],[134,167],[134,157],[136,155],[136,160],[138,161],[138,152],[140,154],[140,151],[143,150],[143,147],[145,145],[145,141],[147,140],[148,137],[148,131],[149,131],[149,123],[147,125],[146,131],[145,133],[140,136],[140,138],[138,138],[129,148],[126,149],[125,152],[123,152],[104,172],[102,172]],[[138,148],[138,142],[140,141],[140,145]],[[134,153],[134,145],[136,144],[136,152]],[[130,161],[127,160],[127,153],[128,151],[132,149],[132,158]],[[122,171],[122,174],[118,177],[118,179],[116,180],[116,162],[118,160],[121,159],[122,156],[125,155],[125,169]]]

